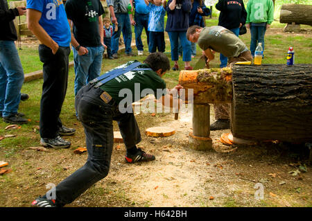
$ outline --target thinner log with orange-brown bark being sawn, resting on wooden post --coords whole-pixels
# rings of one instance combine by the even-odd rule
[[[185,95],[188,94],[188,89],[193,89],[194,104],[231,103],[232,69],[230,68],[180,71],[179,84],[186,89]]]

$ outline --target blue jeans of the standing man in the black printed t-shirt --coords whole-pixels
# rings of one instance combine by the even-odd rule
[[[87,85],[90,80],[100,76],[104,46],[85,47],[88,49],[86,55],[78,55],[73,48],[73,60],[75,69],[75,96],[81,87]]]

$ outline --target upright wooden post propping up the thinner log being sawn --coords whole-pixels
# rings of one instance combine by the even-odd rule
[[[193,132],[189,133],[189,146],[194,150],[211,150],[210,106],[193,105]]]

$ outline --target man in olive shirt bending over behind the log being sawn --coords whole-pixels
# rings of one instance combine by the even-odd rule
[[[236,62],[252,61],[247,46],[231,30],[222,26],[191,26],[187,30],[187,39],[198,42],[207,57],[207,64],[214,59],[215,52],[227,57],[227,67],[232,67]],[[210,130],[229,129],[229,104],[214,105],[214,113],[216,122],[210,125]]]

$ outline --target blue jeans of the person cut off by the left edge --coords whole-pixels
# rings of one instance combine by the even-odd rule
[[[17,113],[21,100],[24,71],[13,41],[0,41],[0,112]]]

